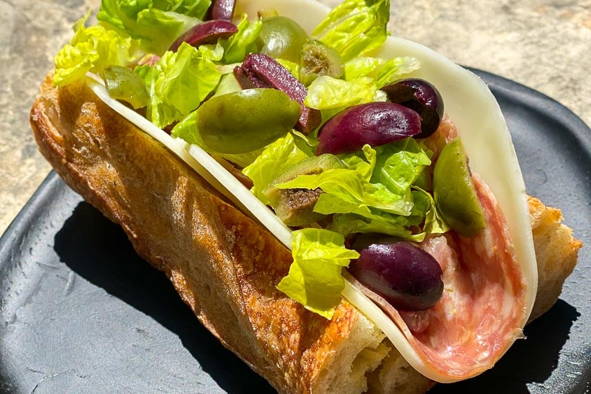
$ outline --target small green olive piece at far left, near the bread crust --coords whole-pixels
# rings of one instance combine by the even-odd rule
[[[129,102],[133,108],[143,108],[150,101],[148,89],[140,75],[129,68],[110,66],[103,70],[104,84],[115,100]]]

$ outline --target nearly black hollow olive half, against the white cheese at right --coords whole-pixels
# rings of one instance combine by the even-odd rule
[[[384,86],[388,100],[413,109],[421,116],[422,132],[414,138],[426,138],[435,133],[443,118],[443,99],[439,91],[422,79],[402,79]]]

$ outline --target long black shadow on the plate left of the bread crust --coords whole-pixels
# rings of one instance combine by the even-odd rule
[[[178,335],[205,373],[229,393],[273,393],[263,379],[224,348],[182,302],[167,277],[135,253],[122,229],[79,203],[55,236],[55,251],[73,272]],[[116,332],[117,321],[106,323]]]

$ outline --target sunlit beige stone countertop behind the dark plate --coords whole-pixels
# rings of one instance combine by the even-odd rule
[[[393,35],[541,91],[591,124],[591,0],[391,1]],[[0,0],[0,234],[50,171],[28,124],[39,84],[71,25],[99,4]]]

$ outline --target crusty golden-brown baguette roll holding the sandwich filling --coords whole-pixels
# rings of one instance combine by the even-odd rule
[[[282,393],[424,393],[423,377],[364,315],[341,301],[331,321],[275,286],[291,255],[84,82],[41,87],[30,117],[41,153],[66,183],[167,274],[203,325]],[[557,209],[530,199],[540,285],[550,308],[581,243]]]

